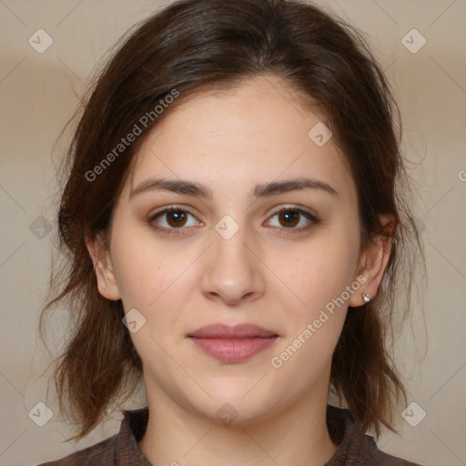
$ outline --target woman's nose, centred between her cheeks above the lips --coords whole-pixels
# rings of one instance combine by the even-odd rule
[[[213,244],[202,256],[204,296],[228,306],[263,296],[265,266],[260,260],[258,243],[250,235],[246,238],[246,228],[239,228],[231,238],[223,237],[212,228],[211,237]]]

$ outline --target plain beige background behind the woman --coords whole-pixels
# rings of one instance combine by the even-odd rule
[[[400,436],[385,432],[378,444],[426,466],[460,466],[466,464],[466,2],[319,4],[329,4],[360,27],[387,69],[404,121],[410,175],[420,193],[417,218],[429,282],[423,305],[417,300],[400,336],[398,357],[409,402],[417,403],[410,407],[410,420],[419,420],[423,411],[426,416],[411,427],[400,412]],[[84,441],[63,442],[69,429],[57,420],[53,397],[46,396],[41,375],[49,360],[36,337],[55,234],[45,231],[41,238],[36,218],[54,219],[55,166],[64,147],[56,140],[97,60],[158,5],[163,3],[0,0],[2,465],[61,458],[117,430],[118,415]],[[43,54],[28,44],[39,28],[54,41]],[[412,28],[427,40],[417,53],[401,42]],[[419,45],[420,37],[413,37],[413,45]],[[57,331],[52,344],[59,348],[61,341]],[[55,413],[44,427],[28,415],[41,401]],[[143,402],[136,399],[135,406]]]

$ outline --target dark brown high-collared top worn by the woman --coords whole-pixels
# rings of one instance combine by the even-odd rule
[[[148,409],[126,410],[124,416],[113,437],[39,466],[154,466],[137,444],[147,428]],[[349,410],[327,405],[327,421],[339,446],[323,466],[420,466],[380,451],[374,439],[360,431]]]

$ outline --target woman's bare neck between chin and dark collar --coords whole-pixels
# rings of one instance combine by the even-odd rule
[[[261,422],[224,425],[184,409],[163,390],[147,390],[149,420],[139,447],[152,464],[322,466],[337,450],[324,394]]]

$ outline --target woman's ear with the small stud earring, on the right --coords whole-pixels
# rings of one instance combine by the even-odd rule
[[[396,231],[396,220],[391,214],[382,214],[379,216],[380,224],[390,235]],[[391,250],[391,238],[386,236],[377,236],[372,238],[369,245],[362,251],[358,265],[358,272],[355,276],[364,277],[366,280],[360,287],[360,293],[353,293],[349,299],[349,306],[358,308],[365,304],[362,299],[362,293],[367,293],[370,299],[374,299],[380,287],[383,273],[389,262]],[[360,281],[360,280],[359,280]]]

